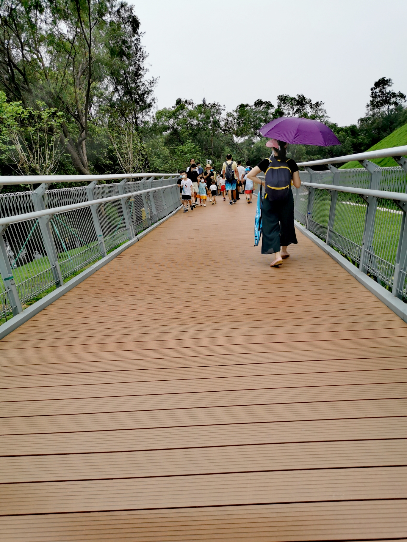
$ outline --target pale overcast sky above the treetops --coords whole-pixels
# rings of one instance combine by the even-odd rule
[[[407,94],[403,0],[132,0],[158,107],[227,110],[278,94],[321,100],[340,126],[365,114],[380,77]]]

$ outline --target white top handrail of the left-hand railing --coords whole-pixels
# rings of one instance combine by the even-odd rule
[[[115,173],[111,175],[12,175],[0,176],[0,185],[37,183],[83,183],[88,180],[139,179],[149,177],[178,177],[179,173]]]

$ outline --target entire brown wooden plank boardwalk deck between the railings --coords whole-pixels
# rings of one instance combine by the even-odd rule
[[[407,539],[407,326],[254,214],[178,213],[0,342],[2,541]]]

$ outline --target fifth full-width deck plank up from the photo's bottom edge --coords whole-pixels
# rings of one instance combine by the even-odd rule
[[[304,408],[306,406],[306,408]],[[20,416],[2,418],[1,435],[69,433],[152,427],[187,427],[230,423],[288,422],[294,420],[338,420],[340,418],[407,417],[407,399],[381,401],[332,401],[273,405],[201,406],[98,414]]]

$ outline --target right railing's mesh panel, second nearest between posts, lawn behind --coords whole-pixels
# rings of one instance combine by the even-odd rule
[[[330,244],[360,262],[367,204],[357,194],[338,192]]]

